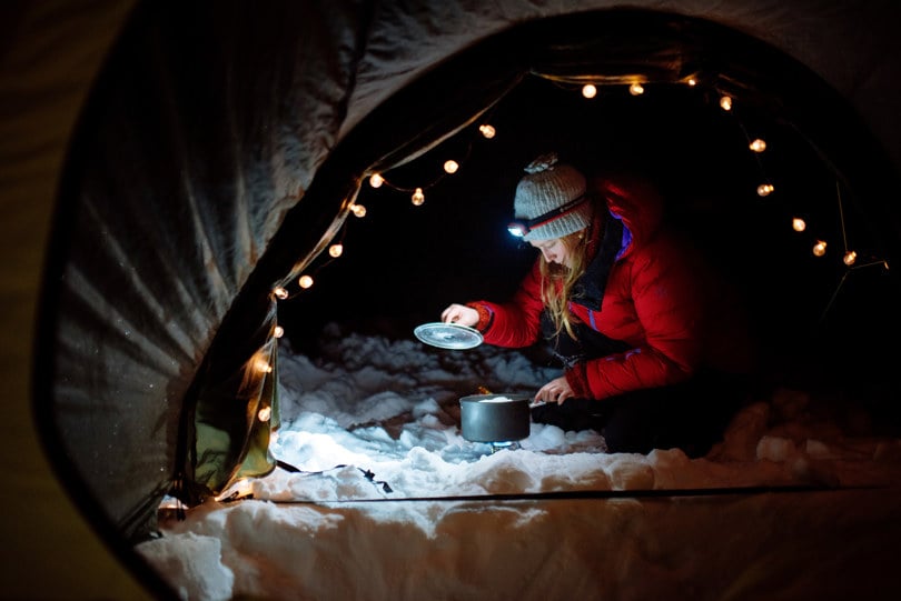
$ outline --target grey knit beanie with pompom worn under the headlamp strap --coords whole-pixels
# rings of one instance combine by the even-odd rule
[[[516,186],[514,214],[524,221],[542,216],[548,216],[548,219],[536,223],[523,236],[523,240],[562,238],[588,227],[592,221],[590,202],[581,202],[553,214],[555,210],[585,196],[585,176],[574,167],[558,163],[555,153],[538,157],[525,168],[525,172]]]

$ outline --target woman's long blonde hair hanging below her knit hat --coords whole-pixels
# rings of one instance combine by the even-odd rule
[[[573,315],[570,312],[570,296],[573,287],[585,273],[588,267],[587,246],[588,231],[581,230],[562,237],[560,240],[570,256],[570,267],[548,263],[544,256],[541,258],[542,273],[542,302],[547,308],[551,320],[556,328],[555,335],[563,330],[575,340],[573,330]]]

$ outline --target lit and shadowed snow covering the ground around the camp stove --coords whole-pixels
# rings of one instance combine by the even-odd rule
[[[137,549],[191,600],[901,598],[901,440],[865,412],[776,388],[693,460],[535,423],[509,448],[461,435],[461,397],[556,374],[337,324],[316,357],[283,342],[270,449],[300,471]]]

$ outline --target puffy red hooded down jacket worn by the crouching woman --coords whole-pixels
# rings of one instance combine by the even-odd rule
[[[606,220],[621,220],[621,241],[600,284],[600,310],[571,300],[572,314],[628,350],[587,359],[565,370],[577,398],[605,399],[628,391],[673,384],[709,367],[729,372],[749,365],[749,337],[741,313],[713,279],[702,257],[662,226],[662,202],[648,186],[595,182],[606,200]],[[602,228],[592,228],[601,247]],[[610,228],[606,229],[610,232]],[[614,240],[614,243],[616,241]],[[607,247],[607,244],[604,244]],[[591,248],[591,247],[590,247]],[[598,259],[597,251],[595,260]],[[538,259],[539,261],[541,259]],[[538,261],[506,303],[476,301],[476,325],[485,342],[522,348],[541,338]],[[584,278],[597,270],[588,269]],[[586,305],[587,304],[587,305]],[[566,335],[565,333],[562,335]]]

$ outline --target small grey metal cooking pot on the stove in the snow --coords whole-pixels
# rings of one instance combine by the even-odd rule
[[[513,442],[528,437],[526,394],[471,394],[459,400],[461,431],[471,442]]]

